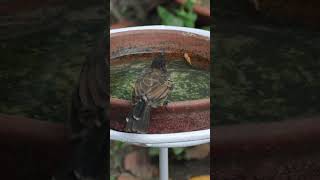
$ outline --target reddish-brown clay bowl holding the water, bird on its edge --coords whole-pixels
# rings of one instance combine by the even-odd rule
[[[197,34],[198,33],[198,34]],[[202,35],[201,35],[202,34]],[[164,51],[168,60],[188,53],[195,66],[209,69],[208,31],[170,26],[146,26],[111,31],[110,64],[126,63],[135,55],[149,60]],[[144,59],[144,58],[143,58]],[[124,131],[129,101],[111,98],[111,129]],[[175,133],[210,128],[210,99],[172,102],[151,111],[150,133]]]

